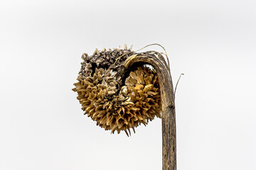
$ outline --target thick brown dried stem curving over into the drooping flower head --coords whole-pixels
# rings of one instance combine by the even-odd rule
[[[162,106],[162,169],[176,170],[176,117],[174,87],[168,65],[161,55],[141,53],[128,57],[124,67],[133,64],[151,64],[159,77]]]

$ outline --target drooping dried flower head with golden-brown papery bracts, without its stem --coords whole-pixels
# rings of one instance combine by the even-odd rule
[[[90,57],[83,54],[84,62],[73,89],[82,110],[97,125],[112,133],[124,130],[128,136],[131,128],[161,117],[157,74],[146,66],[124,70],[122,63],[131,55],[137,54],[126,46],[124,50],[96,49]]]

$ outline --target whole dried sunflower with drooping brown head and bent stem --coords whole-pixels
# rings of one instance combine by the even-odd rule
[[[163,53],[137,53],[126,45],[124,49],[96,49],[91,56],[83,54],[73,91],[78,93],[85,114],[112,133],[123,130],[129,136],[131,128],[161,116],[163,170],[176,170],[174,86],[166,50],[159,46],[167,60]]]

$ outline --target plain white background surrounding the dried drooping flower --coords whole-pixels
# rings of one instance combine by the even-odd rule
[[[161,119],[132,137],[83,115],[83,52],[160,43],[178,170],[256,169],[256,1],[0,1],[0,169],[161,169]],[[159,47],[146,50],[161,51]]]

